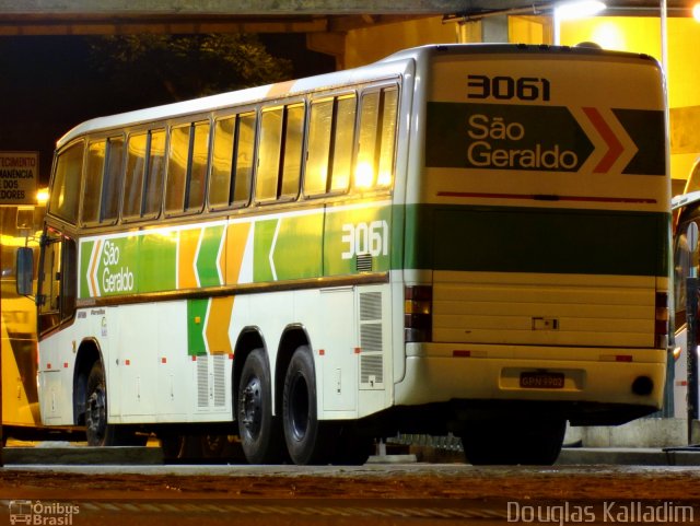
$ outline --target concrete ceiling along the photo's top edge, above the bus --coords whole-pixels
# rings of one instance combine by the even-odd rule
[[[658,15],[664,0],[607,0],[614,15]],[[0,0],[0,35],[337,33],[424,16],[547,13],[527,0]],[[690,15],[667,0],[669,16]]]

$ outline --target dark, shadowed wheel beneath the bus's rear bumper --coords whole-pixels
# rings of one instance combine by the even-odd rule
[[[513,433],[513,426],[517,432]],[[462,436],[465,457],[474,465],[549,466],[557,461],[565,420],[528,420],[505,425],[475,422]]]

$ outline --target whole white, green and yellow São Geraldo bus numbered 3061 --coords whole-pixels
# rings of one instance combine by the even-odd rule
[[[667,152],[658,63],[583,47],[430,45],[83,122],[40,243],[43,422],[551,464],[567,422],[661,407]]]

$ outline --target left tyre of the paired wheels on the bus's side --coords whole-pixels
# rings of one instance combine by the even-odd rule
[[[245,360],[236,406],[241,446],[248,463],[280,461],[282,433],[279,420],[272,417],[272,384],[264,349],[255,349]]]

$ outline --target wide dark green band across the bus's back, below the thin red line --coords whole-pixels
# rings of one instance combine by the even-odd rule
[[[406,214],[407,268],[668,274],[665,213],[410,206]]]

